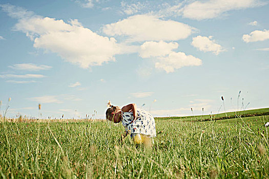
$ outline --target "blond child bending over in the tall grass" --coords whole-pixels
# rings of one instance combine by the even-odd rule
[[[106,112],[107,120],[114,123],[121,122],[126,130],[124,137],[131,133],[131,138],[138,144],[143,142],[144,138],[156,137],[153,116],[147,111],[137,109],[136,104],[128,104],[120,109],[118,106],[111,105],[109,101],[108,107]]]

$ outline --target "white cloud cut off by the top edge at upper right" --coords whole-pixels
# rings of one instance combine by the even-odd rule
[[[211,19],[222,15],[230,10],[254,8],[263,6],[267,3],[259,0],[208,0],[194,1],[191,4],[184,6],[178,12],[183,17],[202,20]]]

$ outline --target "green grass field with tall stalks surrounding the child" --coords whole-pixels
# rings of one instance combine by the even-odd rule
[[[123,126],[107,121],[2,119],[0,176],[269,178],[269,118],[240,115],[156,118],[152,147],[136,146],[129,136],[120,143]]]

